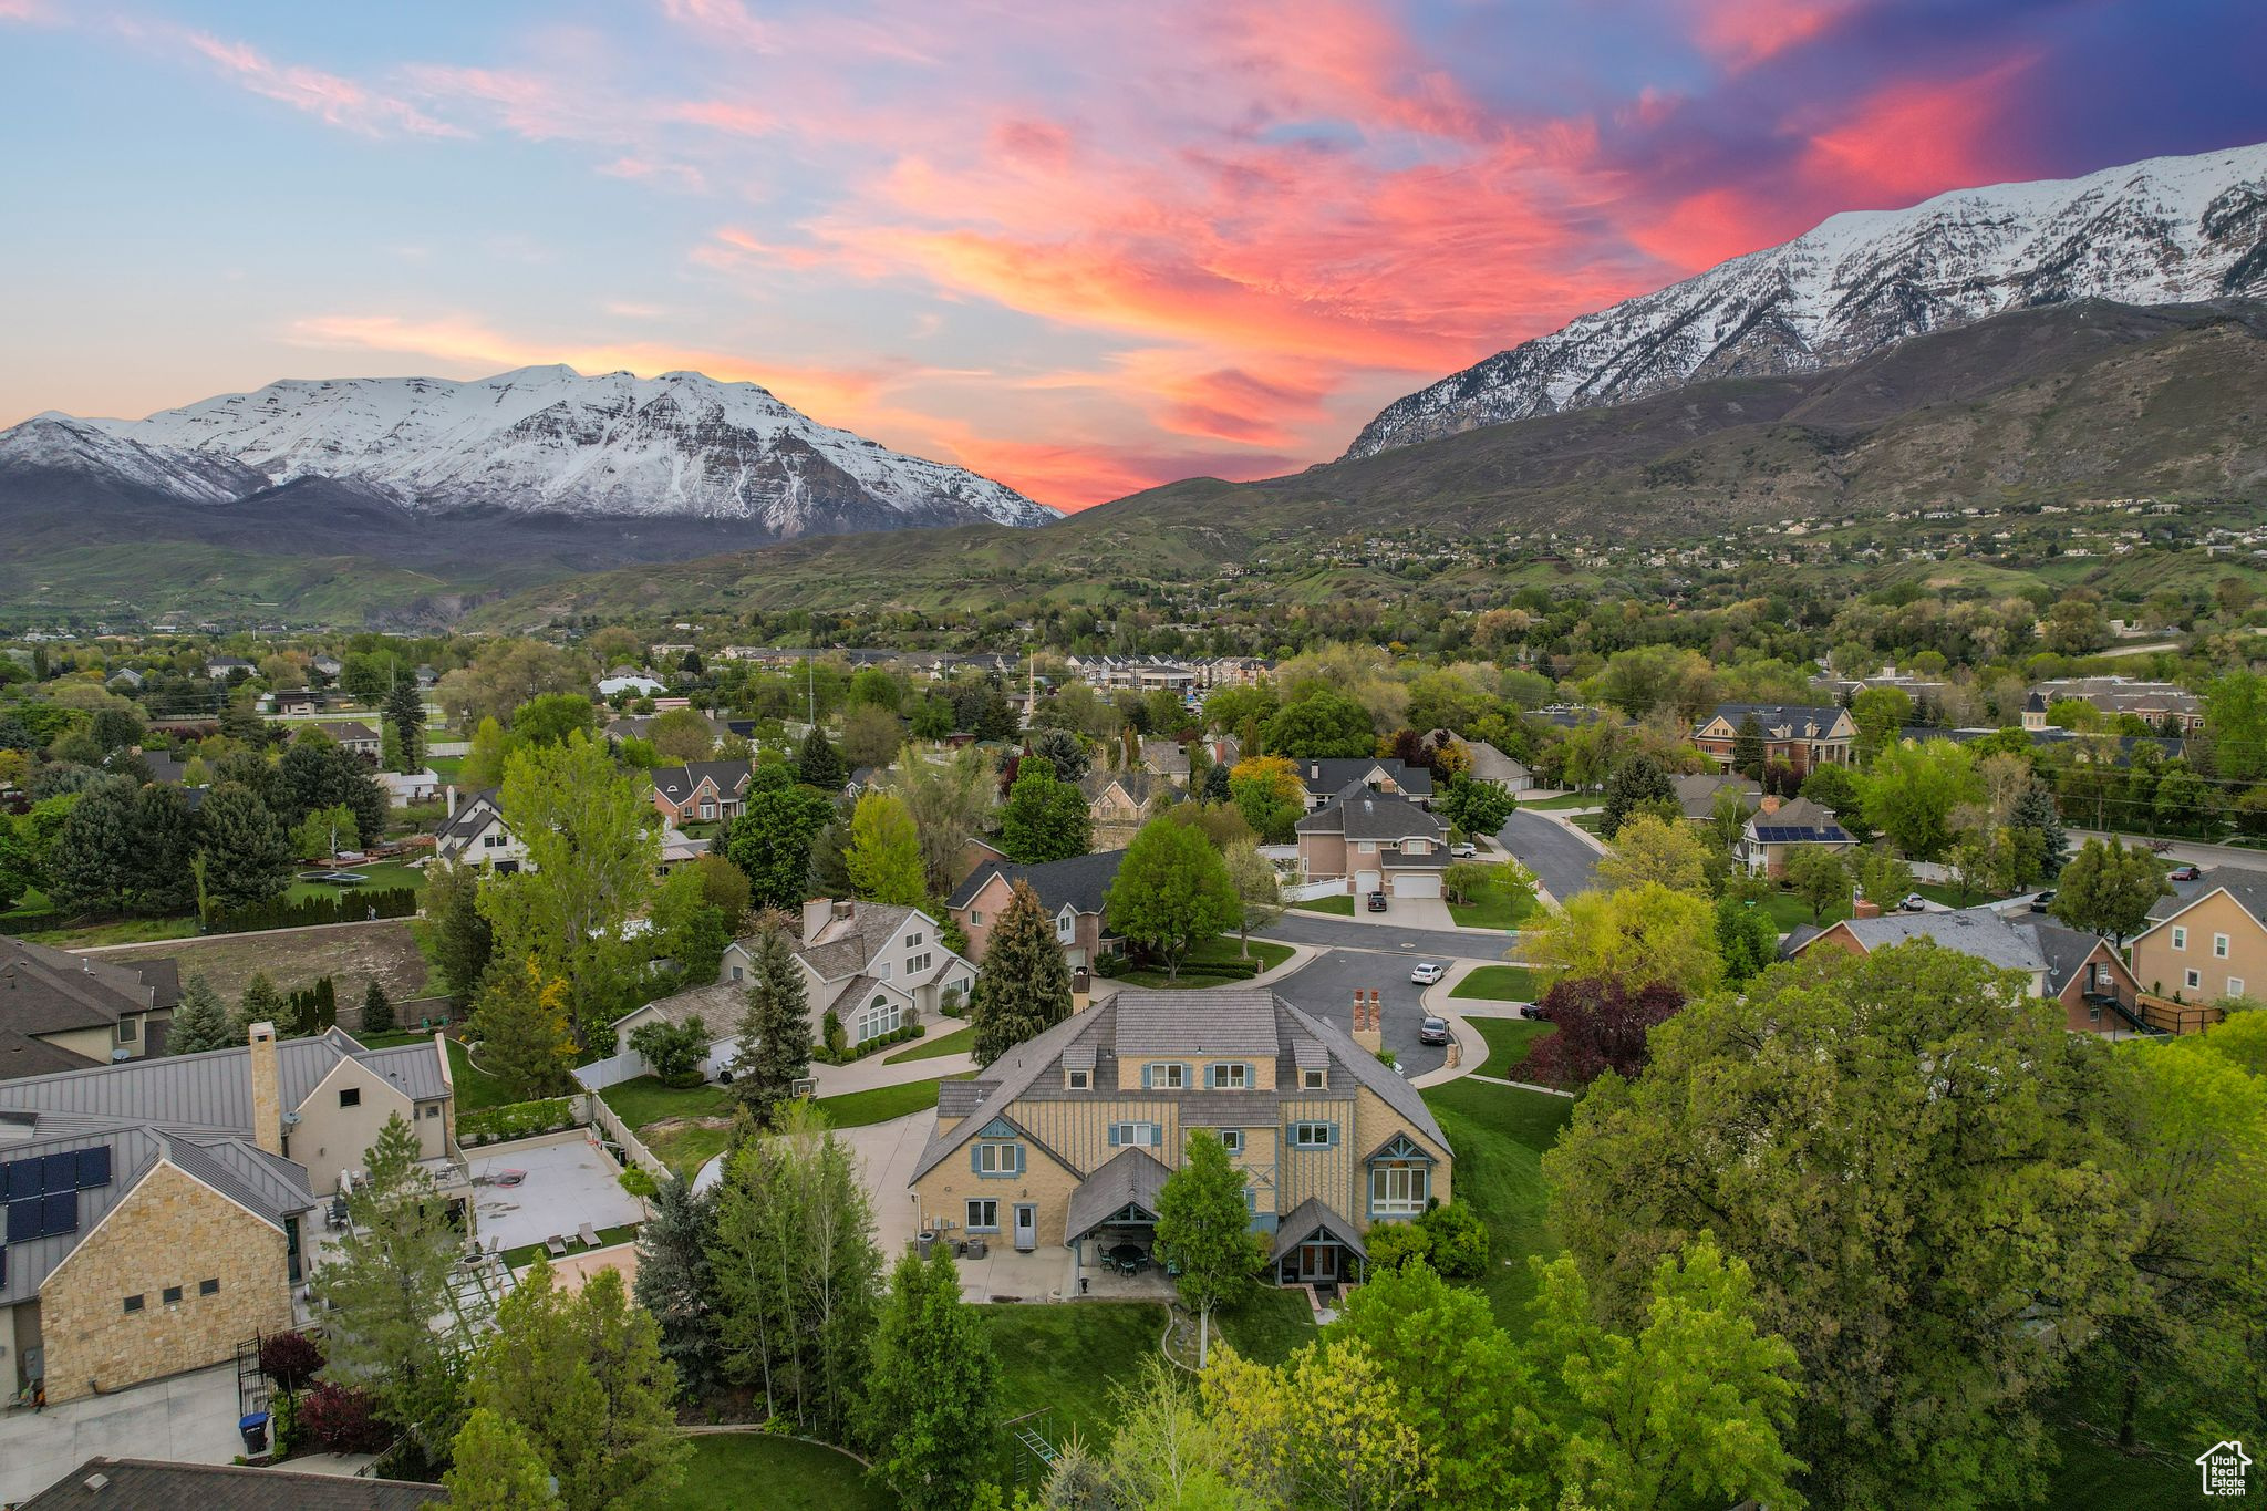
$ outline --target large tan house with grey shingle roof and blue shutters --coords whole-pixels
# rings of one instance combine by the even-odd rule
[[[1122,988],[939,1087],[920,1223],[1068,1248],[1077,1294],[1104,1248],[1147,1248],[1195,1128],[1229,1146],[1283,1284],[1356,1280],[1374,1223],[1451,1196],[1446,1135],[1374,1044],[1265,988]]]

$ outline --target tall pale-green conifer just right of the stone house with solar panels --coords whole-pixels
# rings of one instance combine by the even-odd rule
[[[313,1278],[333,1307],[329,1371],[374,1393],[381,1418],[440,1457],[458,1425],[460,1364],[433,1318],[449,1314],[462,1239],[406,1117],[385,1119],[363,1171],[347,1196],[351,1228]]]

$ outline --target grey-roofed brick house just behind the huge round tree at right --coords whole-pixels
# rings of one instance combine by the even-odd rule
[[[2156,1031],[2147,1024],[2140,983],[2108,940],[2031,913],[2006,917],[1993,908],[1956,908],[1845,917],[1795,942],[1789,954],[1841,949],[1861,956],[1907,940],[1931,940],[1999,970],[2024,972],[2031,994],[2063,1008],[2072,1033],[2124,1038]]]

